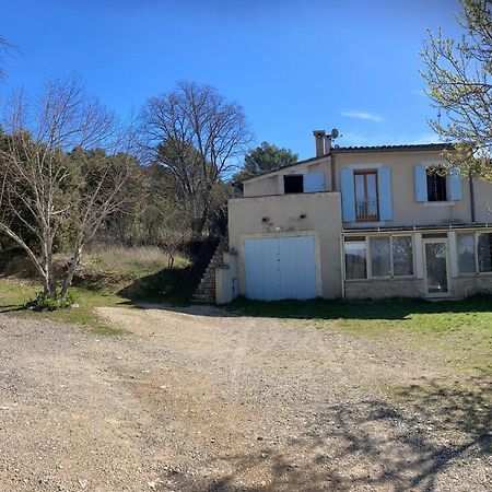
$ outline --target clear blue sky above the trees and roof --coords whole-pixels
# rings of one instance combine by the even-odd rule
[[[0,34],[21,55],[0,89],[82,74],[121,116],[187,79],[241,103],[257,143],[314,155],[340,145],[436,141],[418,52],[426,30],[458,27],[454,0],[16,0]]]

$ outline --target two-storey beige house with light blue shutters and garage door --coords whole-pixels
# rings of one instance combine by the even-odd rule
[[[216,302],[492,292],[492,184],[444,171],[446,144],[332,147],[244,181]]]

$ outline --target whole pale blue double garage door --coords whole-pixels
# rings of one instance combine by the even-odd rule
[[[260,301],[316,297],[314,236],[246,239],[246,297]]]

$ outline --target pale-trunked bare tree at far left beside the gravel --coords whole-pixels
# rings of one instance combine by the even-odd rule
[[[24,248],[45,294],[65,302],[84,245],[125,206],[125,185],[138,166],[117,153],[121,133],[114,115],[77,78],[48,82],[37,101],[11,97],[2,127],[0,231]],[[57,279],[54,243],[63,225],[72,258]]]

